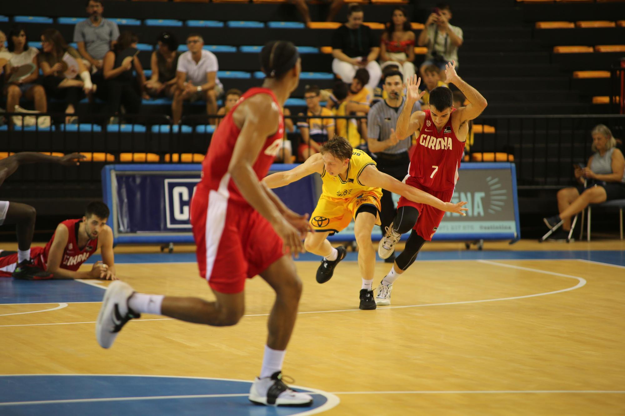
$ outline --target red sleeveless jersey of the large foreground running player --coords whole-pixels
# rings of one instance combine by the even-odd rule
[[[208,191],[218,191],[229,198],[230,201],[244,202],[247,204],[247,201],[241,196],[239,189],[234,185],[227,170],[230,159],[232,158],[232,151],[234,151],[234,145],[241,132],[241,129],[234,124],[232,114],[241,102],[256,94],[269,94],[273,100],[271,105],[275,106],[280,113],[276,133],[267,137],[256,162],[254,162],[254,166],[252,166],[259,181],[267,175],[269,167],[271,167],[274,157],[280,150],[282,144],[284,119],[282,118],[282,109],[274,93],[268,88],[255,87],[247,90],[247,92],[239,98],[239,101],[219,123],[219,127],[217,127],[217,130],[212,135],[211,146],[209,146],[206,157],[204,157],[204,161],[202,162],[202,180],[197,187],[198,192],[208,193]]]

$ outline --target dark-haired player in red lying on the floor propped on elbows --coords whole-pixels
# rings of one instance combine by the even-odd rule
[[[64,220],[56,227],[46,247],[32,247],[29,261],[51,279],[117,279],[113,256],[113,230],[106,225],[109,209],[102,202],[91,202],[81,219]],[[78,271],[92,254],[101,249],[102,262],[89,271]],[[17,252],[0,250],[0,277],[22,279],[14,273],[18,266]],[[37,275],[26,280],[41,280]],[[45,279],[48,279],[46,277]]]

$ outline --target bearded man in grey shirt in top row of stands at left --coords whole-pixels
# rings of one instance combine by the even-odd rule
[[[88,0],[87,14],[89,19],[76,24],[74,42],[78,44],[78,52],[86,59],[93,72],[103,67],[106,52],[113,48],[119,37],[116,22],[104,19],[102,0]]]

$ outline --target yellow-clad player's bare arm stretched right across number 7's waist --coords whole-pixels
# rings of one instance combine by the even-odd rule
[[[386,189],[386,191],[399,194],[411,201],[431,205],[442,211],[456,212],[457,214],[464,215],[463,211],[467,210],[466,208],[462,208],[466,202],[458,202],[457,204],[442,202],[437,197],[421,191],[421,189],[406,185],[403,182],[397,181],[394,177],[378,171],[373,165],[366,166],[362,170],[358,181],[364,186],[381,187],[382,189]]]

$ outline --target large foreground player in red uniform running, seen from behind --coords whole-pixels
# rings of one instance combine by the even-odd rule
[[[114,282],[104,295],[96,335],[99,344],[108,348],[123,325],[141,313],[234,325],[244,313],[245,281],[259,274],[276,291],[276,302],[269,315],[261,374],[252,384],[249,400],[306,406],[312,404],[312,397],[289,389],[281,380],[281,369],[302,290],[284,248],[291,254],[302,250],[307,215],[287,209],[260,182],[281,147],[281,107],[297,87],[301,62],[294,44],[286,41],[267,43],[260,58],[265,81],[243,94],[219,123],[191,202],[197,265],[216,301],[138,294],[128,284]]]

